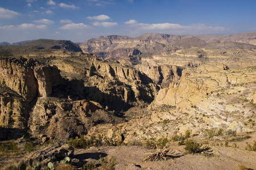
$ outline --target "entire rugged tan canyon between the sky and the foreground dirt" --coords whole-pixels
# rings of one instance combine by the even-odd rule
[[[129,145],[220,129],[255,140],[256,32],[40,39],[1,45],[0,70],[1,141]]]

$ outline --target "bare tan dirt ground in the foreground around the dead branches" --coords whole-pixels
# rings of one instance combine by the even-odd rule
[[[178,151],[179,148],[172,148]],[[76,150],[75,158],[83,158],[97,162],[101,156],[114,156],[117,160],[115,169],[239,169],[238,165],[246,168],[256,168],[256,152],[238,148],[217,146],[211,147],[211,154],[185,154],[179,158],[144,162],[147,150],[139,146],[120,147],[91,147],[87,150]]]

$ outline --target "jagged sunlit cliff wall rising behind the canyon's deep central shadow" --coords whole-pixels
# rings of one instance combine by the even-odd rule
[[[73,62],[77,64],[72,65]],[[97,101],[109,109],[114,106],[121,108],[122,105],[125,109],[127,103],[133,101],[151,102],[159,90],[147,75],[117,62],[76,57],[69,60],[53,59],[51,65],[58,66],[65,78],[73,79],[72,76],[76,76],[80,80],[79,86],[78,83],[71,83],[71,86],[80,89],[81,97]]]

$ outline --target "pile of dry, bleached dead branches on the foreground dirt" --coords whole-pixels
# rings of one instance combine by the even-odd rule
[[[183,156],[184,154],[177,153],[175,154],[176,151],[171,151],[171,148],[165,148],[162,151],[160,151],[158,145],[156,145],[156,152],[152,153],[147,153],[147,156],[144,158],[144,161],[156,161],[156,160],[167,160],[168,158],[179,158],[180,156]]]

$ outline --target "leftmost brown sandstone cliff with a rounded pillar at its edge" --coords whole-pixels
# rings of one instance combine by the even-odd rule
[[[1,57],[1,126],[26,128],[27,105],[35,97],[51,95],[61,82],[57,67],[45,66],[34,59]]]

